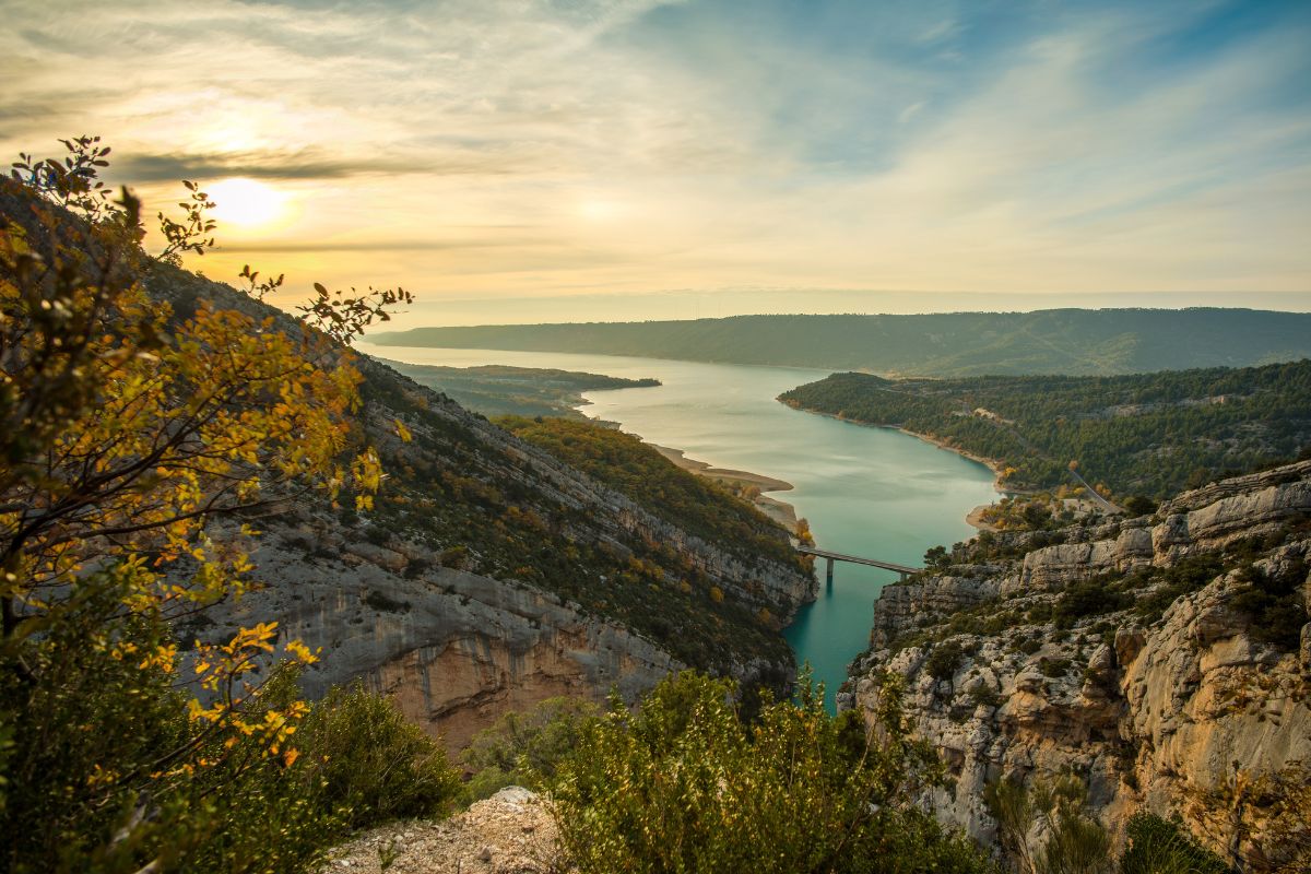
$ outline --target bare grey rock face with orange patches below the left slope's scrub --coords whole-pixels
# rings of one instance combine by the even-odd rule
[[[603,702],[611,689],[636,700],[686,667],[649,639],[530,586],[435,567],[408,579],[363,560],[367,544],[337,544],[342,560],[287,544],[254,554],[267,586],[215,612],[223,638],[275,617],[283,633],[324,658],[307,668],[312,697],[363,681],[406,717],[459,750],[510,710],[549,697]]]

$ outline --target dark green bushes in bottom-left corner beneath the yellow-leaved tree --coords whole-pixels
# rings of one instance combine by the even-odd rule
[[[41,633],[0,646],[0,869],[299,871],[350,828],[458,794],[440,747],[363,691],[329,693],[271,751],[189,718],[178,674],[139,655],[170,629],[118,615],[122,591],[84,582]],[[275,670],[244,718],[287,719],[298,697],[295,671]]]

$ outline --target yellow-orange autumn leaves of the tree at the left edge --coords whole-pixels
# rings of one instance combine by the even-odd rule
[[[219,537],[212,519],[311,491],[336,499],[341,489],[368,510],[383,481],[374,449],[351,447],[347,417],[362,377],[334,338],[349,342],[353,326],[385,318],[383,305],[396,295],[371,299],[368,312],[347,312],[341,324],[324,321],[345,312],[329,301],[313,314],[317,326],[207,301],[178,318],[146,291],[160,267],[140,249],[135,198],[125,189],[111,208],[90,190],[93,168],[60,176],[55,166],[41,190],[3,183],[21,204],[0,221],[5,639],[104,567],[126,582],[123,607],[142,615],[166,618],[240,594],[250,586],[248,544],[258,532],[243,524]],[[205,221],[195,231],[206,232]],[[165,261],[208,245],[189,235],[173,223]],[[250,675],[278,653],[277,637],[275,624],[261,622],[228,643],[198,643],[195,677],[208,694],[190,702],[191,719],[260,736],[277,755],[305,705],[258,722],[245,715],[261,688]],[[110,654],[172,672],[177,647],[125,645]],[[281,654],[316,659],[299,641]],[[282,755],[295,760],[294,751]],[[174,772],[207,764],[180,757]]]

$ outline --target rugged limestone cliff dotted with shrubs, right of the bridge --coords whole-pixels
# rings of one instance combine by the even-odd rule
[[[990,781],[1072,769],[1113,833],[1147,807],[1253,870],[1311,858],[1304,810],[1281,807],[1311,764],[1308,550],[1311,463],[983,536],[884,590],[839,706],[901,675],[953,777],[929,802],[983,840]]]

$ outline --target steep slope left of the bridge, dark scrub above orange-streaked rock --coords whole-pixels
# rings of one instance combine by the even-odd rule
[[[184,313],[212,300],[290,326],[182,271],[152,286]],[[452,747],[506,710],[611,688],[632,700],[682,667],[779,691],[794,676],[776,624],[814,596],[800,560],[692,536],[382,363],[355,367],[357,438],[388,474],[376,508],[309,495],[253,520],[262,587],[193,618],[184,642],[275,620],[324,650],[312,694],[361,679]]]

